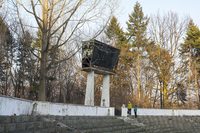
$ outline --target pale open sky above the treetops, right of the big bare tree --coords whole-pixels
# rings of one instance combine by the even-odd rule
[[[119,9],[116,17],[123,28],[126,28],[128,14],[133,11],[133,6],[138,1],[145,15],[176,12],[180,17],[191,17],[194,23],[200,26],[200,0],[119,0]]]

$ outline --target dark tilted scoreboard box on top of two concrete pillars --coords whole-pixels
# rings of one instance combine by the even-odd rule
[[[95,69],[97,73],[114,72],[120,50],[97,40],[83,42],[82,68],[85,71]]]

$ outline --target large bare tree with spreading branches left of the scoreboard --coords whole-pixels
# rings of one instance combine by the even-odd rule
[[[84,34],[81,34],[81,31],[88,27],[91,28],[89,25],[94,26],[92,22],[99,18],[104,21],[102,26],[105,25],[109,19],[106,14],[112,12],[112,6],[109,4],[111,2],[107,0],[30,0],[28,2],[17,0],[16,2],[34,17],[38,30],[42,33],[39,99],[45,101],[47,72],[52,68],[52,64],[49,63],[49,53],[64,46],[71,48],[70,54],[54,62],[54,65],[74,56],[80,47],[72,45],[73,40],[83,37]],[[103,17],[104,15],[107,18]],[[103,29],[104,27],[99,26],[93,37],[98,36]]]

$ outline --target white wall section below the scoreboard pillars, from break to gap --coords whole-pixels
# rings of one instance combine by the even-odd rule
[[[34,113],[41,115],[114,116],[114,108],[74,104],[35,102]]]

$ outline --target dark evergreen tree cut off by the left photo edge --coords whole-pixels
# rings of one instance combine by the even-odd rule
[[[11,82],[11,67],[14,60],[15,43],[9,26],[0,17],[0,94],[8,95]]]

